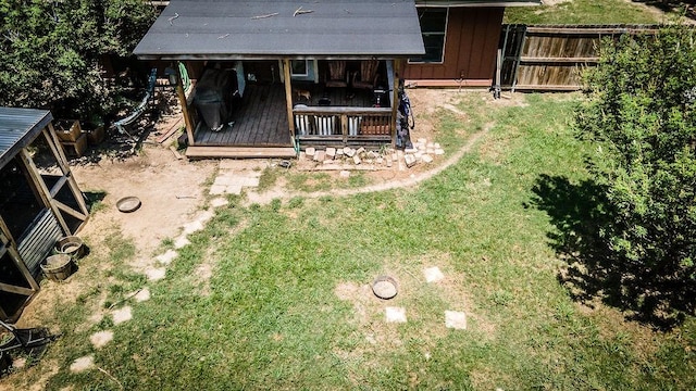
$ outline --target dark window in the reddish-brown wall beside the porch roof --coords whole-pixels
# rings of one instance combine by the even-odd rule
[[[412,63],[442,63],[445,56],[445,31],[447,31],[446,8],[419,8],[418,17],[421,22],[421,34],[425,54],[411,58]]]

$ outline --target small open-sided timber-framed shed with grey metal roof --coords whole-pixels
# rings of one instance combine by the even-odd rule
[[[87,220],[45,110],[0,108],[0,318],[16,320],[39,290],[40,264],[55,241]]]

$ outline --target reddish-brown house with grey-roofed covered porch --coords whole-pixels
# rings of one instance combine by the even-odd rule
[[[403,78],[490,85],[508,2],[485,4],[173,0],[134,54],[177,72],[189,157],[395,144]]]

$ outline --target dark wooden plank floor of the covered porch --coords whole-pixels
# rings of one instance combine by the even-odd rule
[[[282,84],[247,85],[233,126],[210,130],[202,122],[194,134],[196,147],[290,147],[285,88]]]

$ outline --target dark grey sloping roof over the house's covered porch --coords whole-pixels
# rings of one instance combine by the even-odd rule
[[[425,50],[413,1],[172,0],[134,54],[178,60],[418,55]],[[300,7],[312,12],[295,15]]]

